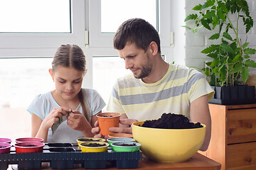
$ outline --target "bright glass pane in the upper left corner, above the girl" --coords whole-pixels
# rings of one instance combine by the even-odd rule
[[[0,1],[0,33],[71,33],[70,0]]]

